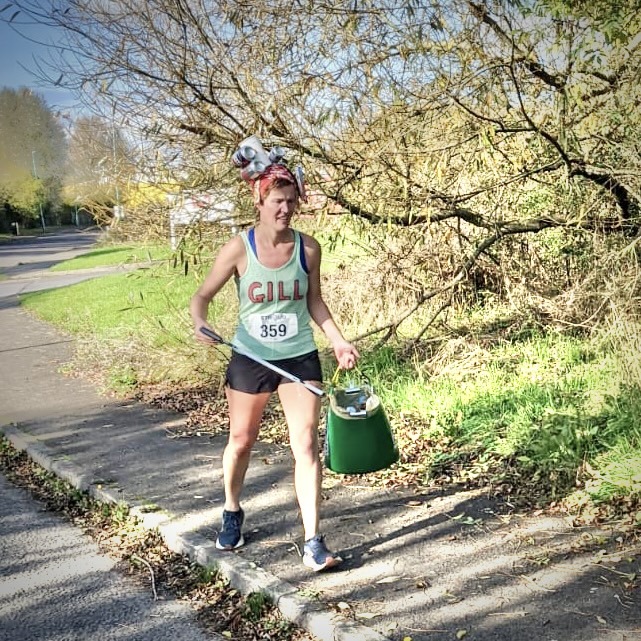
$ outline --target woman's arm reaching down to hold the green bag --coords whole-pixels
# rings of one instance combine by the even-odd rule
[[[309,270],[309,284],[307,288],[307,308],[309,309],[309,315],[323,330],[323,333],[332,344],[339,367],[351,369],[356,364],[359,353],[354,345],[345,340],[323,300],[320,283],[320,245],[318,241],[311,236],[307,236],[306,234],[301,234],[301,236],[304,242],[305,258]]]

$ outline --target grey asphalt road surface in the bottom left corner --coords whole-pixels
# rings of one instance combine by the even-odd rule
[[[114,568],[0,475],[0,641],[205,641],[194,613]]]

